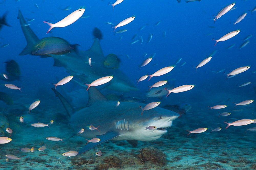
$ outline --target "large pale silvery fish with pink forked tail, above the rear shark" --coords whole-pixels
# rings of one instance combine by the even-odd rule
[[[74,12],[72,12],[71,14],[69,14],[67,17],[65,17],[64,19],[62,19],[61,21],[55,23],[55,24],[52,24],[52,23],[49,23],[49,22],[46,22],[44,21],[44,23],[47,23],[50,28],[49,30],[47,31],[47,33],[54,27],[66,27],[72,23],[74,23],[76,20],[78,20],[84,13],[85,9],[84,8],[81,8],[81,9],[78,9]],[[47,34],[46,33],[46,34]]]

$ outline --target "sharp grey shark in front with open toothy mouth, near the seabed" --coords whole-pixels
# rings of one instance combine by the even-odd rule
[[[134,147],[137,141],[151,141],[160,138],[167,133],[166,128],[172,126],[173,120],[179,114],[170,110],[156,107],[146,110],[141,115],[140,106],[144,103],[121,102],[115,108],[116,102],[110,101],[95,88],[90,87],[89,101],[87,107],[74,112],[68,101],[55,89],[51,88],[64,105],[70,119],[70,124],[77,132],[84,128],[84,132],[79,134],[84,138],[99,138],[97,143],[89,142],[78,153],[84,153],[91,148],[100,145],[108,140],[127,140]],[[90,130],[89,126],[99,126],[99,130]],[[156,126],[154,130],[145,130],[145,127]]]

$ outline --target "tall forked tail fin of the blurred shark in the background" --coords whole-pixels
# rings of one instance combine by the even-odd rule
[[[40,42],[40,40],[36,36],[36,34],[31,30],[31,28],[28,26],[20,10],[19,10],[17,19],[19,19],[21,29],[27,41],[27,46],[19,55],[23,56],[23,55],[31,54],[35,45],[37,45]]]

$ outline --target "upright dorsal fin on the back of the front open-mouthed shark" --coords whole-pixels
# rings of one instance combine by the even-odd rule
[[[97,102],[108,101],[108,99],[102,93],[100,93],[100,91],[94,86],[91,86],[88,89],[88,92],[89,92],[89,101],[87,106],[91,106],[92,104]]]

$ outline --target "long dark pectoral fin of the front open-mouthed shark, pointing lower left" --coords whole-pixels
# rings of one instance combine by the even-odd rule
[[[78,154],[84,153],[84,152],[94,148],[95,146],[98,146],[101,143],[104,143],[104,142],[106,142],[108,140],[111,140],[111,139],[113,139],[115,137],[118,137],[118,136],[120,136],[120,134],[118,132],[115,132],[115,131],[109,131],[109,132],[105,133],[104,135],[96,135],[96,137],[99,138],[100,141],[97,142],[97,143],[89,142],[87,145],[85,145],[82,149],[80,149],[78,151]]]

